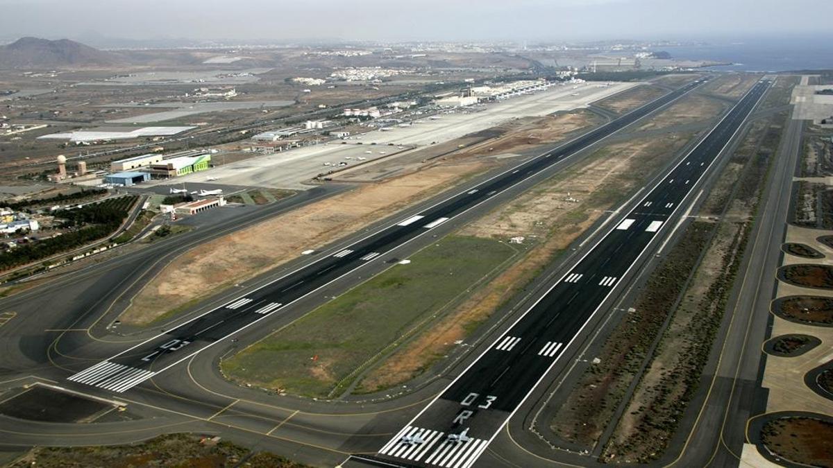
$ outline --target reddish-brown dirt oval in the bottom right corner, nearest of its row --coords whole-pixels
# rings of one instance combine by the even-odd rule
[[[809,417],[769,421],[761,429],[767,449],[793,463],[833,467],[833,424]]]

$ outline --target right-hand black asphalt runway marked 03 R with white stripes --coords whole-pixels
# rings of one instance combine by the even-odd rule
[[[471,466],[616,286],[626,282],[769,86],[762,81],[752,87],[623,221],[382,446],[382,459],[416,466]]]

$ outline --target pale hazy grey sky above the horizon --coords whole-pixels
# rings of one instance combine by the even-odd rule
[[[708,40],[831,24],[829,0],[0,0],[3,37]]]

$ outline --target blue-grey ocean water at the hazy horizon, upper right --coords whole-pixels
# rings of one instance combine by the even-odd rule
[[[661,49],[671,53],[671,56],[675,58],[734,64],[710,67],[714,70],[787,72],[833,69],[833,40],[830,37],[801,40],[746,40],[702,46],[661,47]]]

